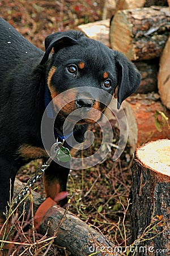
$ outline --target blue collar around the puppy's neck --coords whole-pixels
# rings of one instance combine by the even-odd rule
[[[45,86],[45,93],[44,93],[45,108],[48,106],[50,101],[51,101],[50,92],[49,92],[48,86],[46,85]],[[48,107],[46,113],[47,113],[48,118],[50,118],[50,119],[54,118],[54,113],[53,113],[53,109],[52,109],[51,106]],[[64,141],[64,140],[66,141],[66,139],[68,139],[74,133],[74,131],[71,131],[70,134],[64,136],[61,133],[61,131],[59,131],[56,127],[54,127],[54,130],[56,131],[54,133],[55,137],[61,139],[61,141]]]

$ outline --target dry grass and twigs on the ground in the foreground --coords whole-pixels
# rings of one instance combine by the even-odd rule
[[[98,139],[91,146],[90,152],[93,153],[100,143],[100,129],[94,126],[94,133]],[[114,144],[118,143],[117,135],[114,136]],[[95,226],[109,240],[116,245],[126,246],[130,244],[130,213],[129,213],[129,192],[131,185],[129,147],[126,146],[121,159],[117,162],[112,161],[115,148],[112,147],[111,154],[104,163],[97,164],[88,170],[72,170],[68,181],[68,192],[72,195],[75,189],[79,190],[71,201],[70,211],[76,214],[84,222]],[[88,152],[87,152],[88,154]],[[82,156],[82,153],[80,152]],[[128,162],[129,161],[129,162]],[[31,162],[20,169],[18,178],[27,181],[33,175],[36,168],[41,164],[40,160]],[[38,186],[38,187],[37,187]],[[35,185],[35,189],[42,196],[44,187],[41,180]],[[29,196],[29,195],[28,195]],[[25,209],[21,216],[14,215],[16,209],[12,208],[12,202],[7,218],[13,217],[14,221],[10,229],[10,241],[14,245],[11,255],[46,255],[52,238],[47,239],[36,233],[33,225],[33,198],[32,206],[27,220],[25,220]],[[8,240],[8,234],[4,240]],[[3,246],[3,243],[1,244]],[[17,254],[15,252],[17,251]],[[10,254],[9,254],[10,255]],[[70,255],[66,249],[59,249],[50,245],[47,255]],[[73,255],[74,256],[74,255]]]

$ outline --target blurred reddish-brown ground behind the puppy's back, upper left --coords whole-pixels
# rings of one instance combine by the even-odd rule
[[[25,38],[44,49],[44,39],[57,31],[101,19],[100,0],[1,0],[0,15]]]

